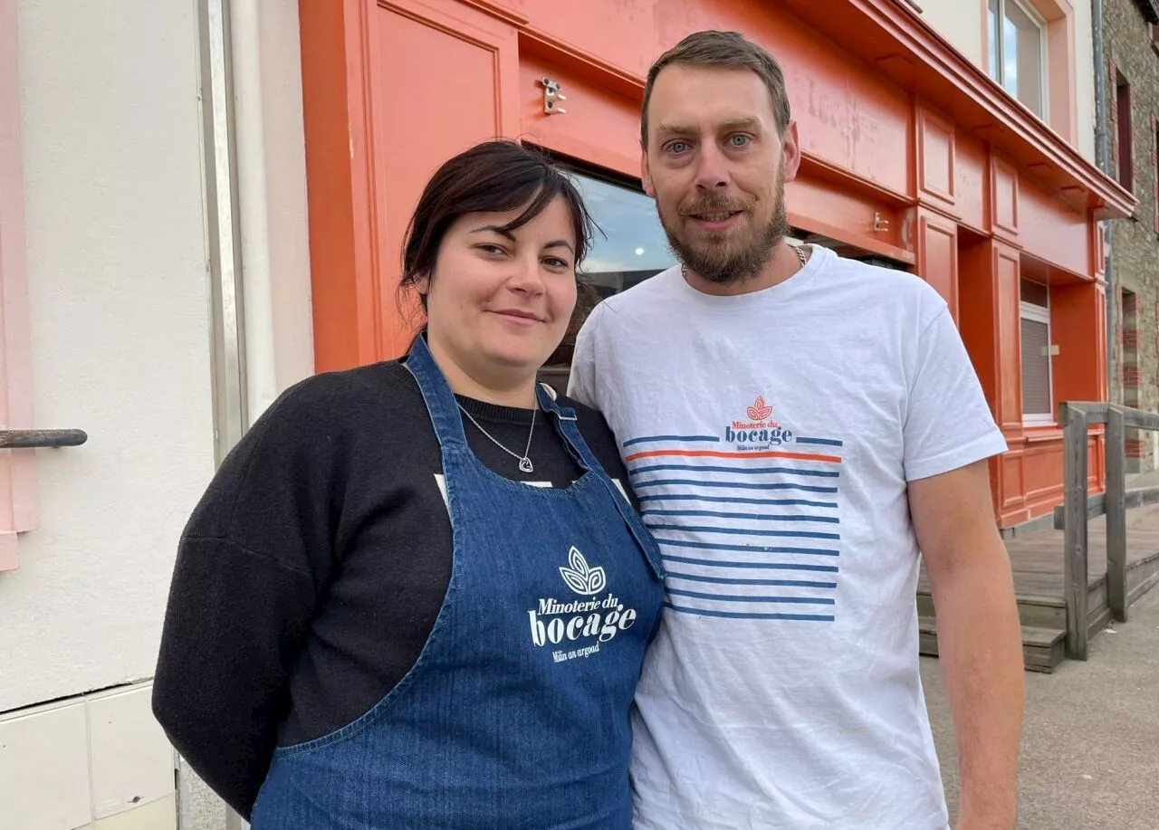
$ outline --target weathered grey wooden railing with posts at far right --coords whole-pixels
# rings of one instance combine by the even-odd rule
[[[1055,509],[1055,526],[1064,531],[1066,656],[1086,660],[1089,632],[1087,522],[1107,517],[1107,604],[1127,621],[1127,510],[1159,501],[1159,487],[1127,492],[1127,430],[1159,431],[1159,415],[1107,402],[1067,401],[1058,407],[1065,430],[1063,479],[1065,500]],[[1088,428],[1107,427],[1107,489],[1087,494]]]

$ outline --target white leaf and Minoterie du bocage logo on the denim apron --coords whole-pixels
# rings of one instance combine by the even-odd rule
[[[607,574],[603,567],[590,566],[575,546],[568,552],[567,567],[559,571],[574,594],[592,598],[560,602],[555,597],[541,597],[537,606],[527,611],[532,643],[537,647],[564,646],[552,651],[556,663],[599,654],[603,643],[636,621],[636,610],[624,607],[614,594],[596,597],[607,587]]]

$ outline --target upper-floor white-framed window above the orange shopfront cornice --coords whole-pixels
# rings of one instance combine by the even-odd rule
[[[1045,22],[1019,0],[990,0],[987,27],[991,78],[1045,119]]]

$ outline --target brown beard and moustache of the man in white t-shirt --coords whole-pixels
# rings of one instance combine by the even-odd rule
[[[752,214],[756,202],[752,198],[744,201],[726,198],[715,194],[686,202],[677,209],[679,216],[677,221],[670,221],[659,209],[659,224],[668,234],[668,243],[672,253],[691,271],[705,279],[719,285],[738,285],[760,275],[768,261],[773,259],[773,252],[789,232],[788,218],[785,212],[785,176],[781,170],[777,172],[777,187],[773,189],[775,204],[773,216],[768,223],[761,227],[744,230],[739,233],[727,232],[726,234],[708,233],[708,239],[693,242],[691,239],[681,238],[679,220],[693,213],[724,213],[729,211],[744,210]],[[715,236],[715,238],[714,238]]]

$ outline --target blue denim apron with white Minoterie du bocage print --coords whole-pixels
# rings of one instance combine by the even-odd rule
[[[575,414],[537,387],[585,471],[567,489],[483,466],[417,338],[443,456],[451,581],[411,670],[355,722],[278,749],[254,830],[628,830],[632,705],[659,553]],[[384,596],[382,602],[391,602]]]

